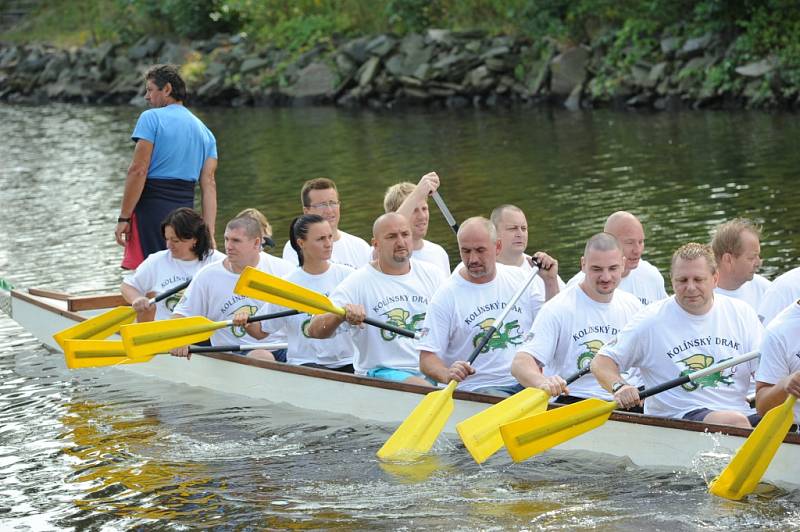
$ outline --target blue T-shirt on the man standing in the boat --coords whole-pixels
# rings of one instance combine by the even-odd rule
[[[143,112],[131,139],[153,143],[148,179],[197,181],[206,159],[217,158],[214,134],[179,104]]]

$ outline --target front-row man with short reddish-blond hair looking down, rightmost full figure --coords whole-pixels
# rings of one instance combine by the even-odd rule
[[[650,388],[755,350],[763,326],[746,303],[715,295],[719,273],[707,245],[689,243],[672,255],[675,295],[639,312],[592,360],[592,373],[622,408],[641,404],[620,370],[637,367]],[[747,402],[757,363],[745,362],[647,399],[645,414],[750,427]]]

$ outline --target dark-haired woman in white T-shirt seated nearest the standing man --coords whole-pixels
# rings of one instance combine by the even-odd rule
[[[148,294],[165,292],[191,279],[203,266],[225,258],[212,248],[211,233],[203,218],[194,210],[175,209],[161,223],[167,249],[145,259],[134,273],[122,281],[122,297],[136,310],[138,321],[164,320],[170,317],[180,295],[168,297],[155,306]]]

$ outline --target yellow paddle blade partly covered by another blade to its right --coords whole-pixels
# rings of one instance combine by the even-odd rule
[[[458,435],[476,462],[482,464],[503,446],[500,425],[547,410],[550,396],[538,388],[525,388],[458,425]]]

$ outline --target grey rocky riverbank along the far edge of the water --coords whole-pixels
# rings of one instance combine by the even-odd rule
[[[799,87],[782,79],[775,59],[735,64],[729,44],[712,34],[665,36],[646,53],[630,50],[625,67],[609,65],[602,39],[568,46],[438,29],[361,37],[302,54],[238,35],[71,49],[2,44],[0,100],[143,104],[142,72],[170,62],[183,65],[193,105],[800,107]]]

